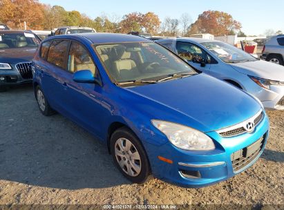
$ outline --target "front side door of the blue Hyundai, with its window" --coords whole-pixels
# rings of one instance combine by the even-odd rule
[[[102,124],[110,115],[107,107],[102,106],[104,89],[99,84],[74,82],[73,73],[79,70],[91,70],[94,77],[100,79],[100,74],[88,53],[88,50],[77,41],[72,41],[68,53],[67,70],[70,78],[66,79],[66,104],[68,112],[76,122],[79,122],[92,133],[102,136]]]

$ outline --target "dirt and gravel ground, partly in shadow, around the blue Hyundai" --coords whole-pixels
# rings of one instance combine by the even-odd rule
[[[89,133],[41,115],[31,86],[13,88],[0,93],[0,204],[284,204],[284,112],[267,113],[267,147],[247,171],[202,189],[156,179],[139,186]]]

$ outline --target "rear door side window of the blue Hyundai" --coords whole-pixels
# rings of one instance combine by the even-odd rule
[[[64,68],[69,41],[55,40],[48,50],[48,62]]]

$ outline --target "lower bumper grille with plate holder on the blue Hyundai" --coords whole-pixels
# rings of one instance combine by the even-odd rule
[[[251,144],[231,154],[231,164],[234,172],[240,171],[256,159],[263,149],[265,139],[266,135],[254,142],[254,144]]]

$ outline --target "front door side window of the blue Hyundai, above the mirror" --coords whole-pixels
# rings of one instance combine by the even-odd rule
[[[68,70],[75,73],[78,70],[91,70],[95,75],[95,64],[88,51],[77,42],[72,42],[68,55]]]

